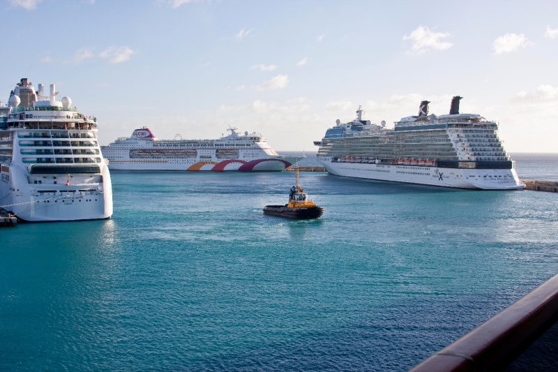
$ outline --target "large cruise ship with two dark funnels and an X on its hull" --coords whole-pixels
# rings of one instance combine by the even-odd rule
[[[498,137],[498,126],[478,114],[460,114],[455,96],[450,112],[428,114],[429,101],[418,115],[395,122],[395,128],[362,119],[329,128],[317,158],[329,173],[343,177],[407,182],[453,188],[511,190],[525,188],[515,162]]]

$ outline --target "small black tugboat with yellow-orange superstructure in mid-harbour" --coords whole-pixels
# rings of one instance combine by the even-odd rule
[[[264,214],[286,218],[310,219],[319,218],[324,213],[324,208],[308,199],[302,186],[299,185],[299,167],[295,168],[296,186],[292,186],[289,193],[289,203],[285,205],[266,205]]]

